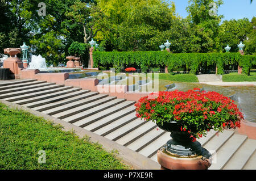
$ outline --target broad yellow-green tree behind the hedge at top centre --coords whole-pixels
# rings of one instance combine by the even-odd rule
[[[174,4],[160,0],[98,0],[97,5],[106,15],[105,32],[97,37],[116,50],[159,50],[159,37],[176,18]]]

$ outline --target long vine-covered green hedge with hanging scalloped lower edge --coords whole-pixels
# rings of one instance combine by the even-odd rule
[[[164,51],[147,52],[93,52],[94,67],[114,66],[118,70],[135,67],[146,72],[147,69],[168,66],[168,71],[174,68],[186,67],[195,74],[200,65],[217,65],[218,74],[223,74],[224,65],[239,64],[243,73],[248,74],[256,64],[256,56],[241,55],[240,53],[169,53]]]

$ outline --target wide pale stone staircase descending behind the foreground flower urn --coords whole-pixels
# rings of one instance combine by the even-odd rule
[[[0,99],[72,123],[157,162],[156,152],[170,139],[170,133],[135,116],[134,101],[117,99],[79,87],[19,79],[0,82]],[[256,169],[256,140],[234,131],[210,131],[199,139],[213,154],[209,169]]]

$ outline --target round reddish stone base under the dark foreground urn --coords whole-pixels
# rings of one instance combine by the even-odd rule
[[[207,170],[210,165],[210,154],[202,148],[202,155],[196,157],[177,157],[167,151],[166,147],[158,150],[158,162],[161,169],[170,170]]]

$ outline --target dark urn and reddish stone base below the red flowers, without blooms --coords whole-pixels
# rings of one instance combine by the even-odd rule
[[[181,131],[176,121],[156,123],[160,129],[171,132],[171,140],[158,150],[158,162],[163,169],[204,170],[210,166],[210,153],[202,148],[200,142],[192,142],[187,131]],[[193,132],[193,130],[191,130]]]

